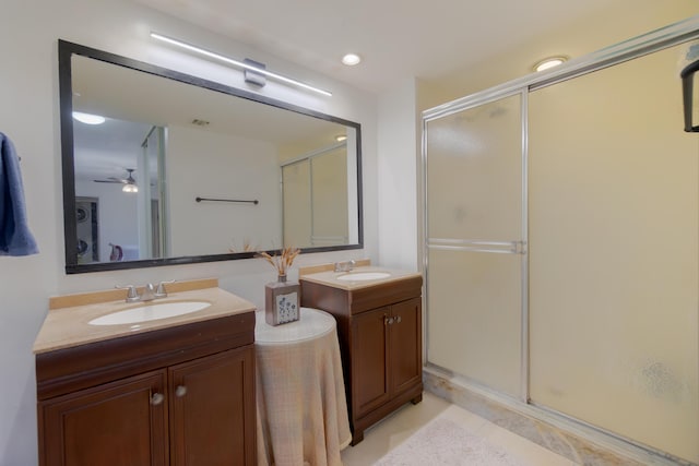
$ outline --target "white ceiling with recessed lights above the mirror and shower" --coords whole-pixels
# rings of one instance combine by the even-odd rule
[[[696,0],[137,1],[375,93],[517,51],[513,79],[541,53],[583,55],[699,12]],[[348,51],[363,63],[340,64]]]

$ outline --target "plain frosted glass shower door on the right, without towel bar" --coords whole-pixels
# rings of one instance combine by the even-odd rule
[[[683,131],[683,52],[530,95],[530,377],[534,404],[699,463],[699,136]]]

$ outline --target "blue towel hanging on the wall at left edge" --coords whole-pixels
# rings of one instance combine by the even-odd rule
[[[0,133],[0,255],[37,252],[26,222],[20,159],[12,141]]]

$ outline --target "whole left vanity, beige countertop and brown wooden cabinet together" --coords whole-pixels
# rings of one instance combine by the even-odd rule
[[[34,345],[40,465],[256,464],[254,306],[213,279],[168,291],[153,306],[208,306],[95,325],[144,303],[51,300]]]

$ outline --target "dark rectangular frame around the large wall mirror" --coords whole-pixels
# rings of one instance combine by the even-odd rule
[[[58,77],[59,77],[59,101],[60,101],[60,130],[61,130],[61,160],[63,172],[63,230],[64,230],[64,243],[66,243],[66,273],[79,274],[87,272],[104,272],[104,271],[118,271],[129,268],[143,268],[155,267],[163,265],[178,265],[178,264],[193,264],[200,262],[215,262],[215,261],[230,261],[237,259],[250,259],[253,258],[257,252],[237,252],[225,254],[209,254],[209,255],[187,255],[177,258],[165,259],[145,259],[128,262],[99,262],[91,264],[78,263],[78,230],[76,230],[76,215],[75,215],[75,165],[74,165],[74,148],[73,148],[73,91],[72,91],[72,67],[71,57],[79,55],[95,60],[100,60],[107,63],[112,63],[119,67],[129,68],[144,73],[150,73],[156,76],[166,77],[169,80],[179,81],[181,83],[191,84],[215,91],[224,96],[245,98],[248,100],[257,101],[261,105],[270,105],[283,110],[294,111],[297,113],[306,115],[312,118],[319,118],[322,120],[344,124],[355,129],[356,132],[356,147],[357,147],[357,227],[358,227],[358,243],[356,244],[342,244],[330,247],[317,247],[317,248],[303,248],[301,252],[325,252],[325,251],[342,251],[352,249],[364,248],[364,223],[363,223],[363,200],[362,200],[362,126],[354,121],[344,120],[330,115],[321,113],[319,111],[310,110],[304,107],[292,105],[282,100],[264,97],[259,94],[254,94],[248,91],[244,91],[236,87],[226,86],[221,83],[209,81],[202,77],[192,76],[189,74],[180,73],[178,71],[168,70],[154,64],[145,63],[142,61],[133,60],[130,58],[121,57],[118,55],[109,53],[103,50],[97,50],[91,47],[81,46],[78,44],[69,43],[66,40],[58,40]],[[279,250],[266,251],[270,254],[279,253]]]

